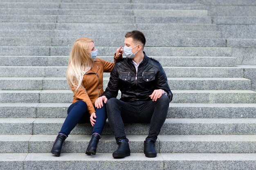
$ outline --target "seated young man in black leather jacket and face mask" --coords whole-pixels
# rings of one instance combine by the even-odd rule
[[[106,103],[108,122],[118,144],[114,158],[130,156],[124,123],[150,123],[144,153],[146,157],[156,157],[155,142],[173,94],[161,64],[143,51],[146,43],[143,33],[131,31],[125,37],[124,50],[117,49],[115,57],[124,53],[126,58],[115,64],[108,87],[95,101],[95,107],[101,108]],[[119,90],[121,98],[117,99]]]

